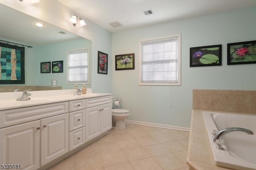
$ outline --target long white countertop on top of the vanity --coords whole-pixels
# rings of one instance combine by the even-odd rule
[[[26,101],[16,101],[16,99],[22,95],[22,92],[0,93],[0,111],[112,95],[111,93],[88,93],[74,95],[74,92],[76,92],[76,90],[31,91],[30,100]]]

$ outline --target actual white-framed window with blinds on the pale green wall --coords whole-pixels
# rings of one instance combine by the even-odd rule
[[[139,85],[180,85],[180,34],[140,41]]]

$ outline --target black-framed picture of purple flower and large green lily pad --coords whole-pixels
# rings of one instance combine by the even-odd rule
[[[190,48],[190,67],[221,65],[222,45]]]

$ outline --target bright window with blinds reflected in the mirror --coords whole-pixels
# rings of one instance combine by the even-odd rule
[[[68,83],[89,84],[89,49],[68,51]]]

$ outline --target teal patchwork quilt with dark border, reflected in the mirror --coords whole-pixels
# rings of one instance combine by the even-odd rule
[[[0,84],[24,84],[25,48],[0,43]]]

